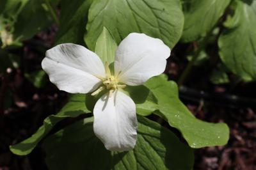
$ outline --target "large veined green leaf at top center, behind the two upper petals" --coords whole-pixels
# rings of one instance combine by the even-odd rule
[[[179,0],[95,0],[89,10],[84,40],[89,49],[95,49],[97,38],[106,27],[116,43],[135,32],[160,38],[173,47],[179,41],[183,22]]]

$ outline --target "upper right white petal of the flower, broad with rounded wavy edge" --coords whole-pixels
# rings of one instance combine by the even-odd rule
[[[150,77],[164,72],[170,48],[157,38],[131,33],[118,46],[115,73],[120,82],[131,86],[143,84]]]

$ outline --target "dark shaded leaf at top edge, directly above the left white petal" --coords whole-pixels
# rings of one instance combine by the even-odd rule
[[[93,0],[62,0],[60,3],[60,26],[56,35],[56,44],[77,43],[84,45],[83,36],[88,18],[88,9]]]

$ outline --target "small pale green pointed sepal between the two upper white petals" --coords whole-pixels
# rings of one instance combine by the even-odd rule
[[[100,57],[103,63],[109,65],[115,61],[116,42],[106,27],[103,27],[102,33],[97,39],[95,53]]]

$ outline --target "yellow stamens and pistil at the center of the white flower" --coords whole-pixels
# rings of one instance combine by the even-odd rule
[[[108,62],[105,63],[105,72],[106,72],[106,77],[98,77],[102,83],[103,86],[100,86],[96,91],[92,93],[92,96],[97,95],[100,93],[100,91],[104,89],[109,90],[109,95],[112,95],[113,91],[115,91],[118,88],[125,88],[125,84],[120,84],[118,82],[118,75],[114,76],[111,75],[111,72],[108,67]]]

